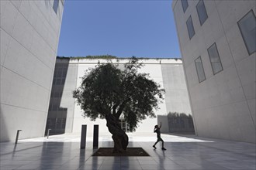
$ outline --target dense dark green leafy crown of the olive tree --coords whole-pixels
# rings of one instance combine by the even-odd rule
[[[112,114],[118,120],[123,114],[132,131],[147,116],[155,117],[164,90],[147,73],[138,73],[142,66],[132,57],[123,70],[113,63],[99,63],[87,70],[81,86],[73,92],[84,116],[95,120]]]

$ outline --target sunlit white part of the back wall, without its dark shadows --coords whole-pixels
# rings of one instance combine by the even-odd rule
[[[61,60],[62,59],[57,59],[57,63],[61,63]],[[128,62],[128,59],[117,59],[117,60],[119,61],[120,68],[123,67],[124,63]],[[168,111],[181,111],[185,113],[191,113],[191,110],[189,110],[190,107],[189,107],[188,92],[185,87],[184,72],[182,70],[182,60],[181,59],[140,59],[140,61],[145,64],[145,66],[140,70],[140,73],[150,73],[150,78],[156,81],[157,83],[161,84],[161,87],[163,87],[166,90],[165,100],[166,99],[169,100],[168,104],[171,104],[171,101],[175,101],[176,103],[178,103],[178,107],[175,107],[174,109],[172,107],[167,106],[167,103],[164,100],[163,103],[159,105],[160,109],[155,112],[156,116],[167,115]],[[70,77],[67,76],[66,81],[69,83],[68,84],[65,83],[64,92],[68,93],[69,96],[64,96],[64,97],[67,97],[68,99],[62,99],[62,100],[68,101],[67,104],[63,104],[64,107],[68,108],[68,107],[71,107],[72,104],[74,104],[74,99],[70,95],[71,87],[74,87],[74,84],[76,87],[79,87],[81,84],[81,76],[84,75],[85,70],[88,70],[89,68],[94,68],[98,62],[106,63],[106,59],[79,59],[79,60],[71,59],[70,60],[69,67],[77,66],[78,73],[76,76],[77,78],[73,76],[70,76]],[[116,63],[116,59],[112,59],[112,62]],[[164,73],[162,72],[162,70],[164,70]],[[67,70],[67,75],[69,74],[69,71],[70,69]],[[76,82],[74,80],[76,80]],[[171,80],[170,85],[168,85],[168,81],[170,80]],[[73,81],[73,84],[72,84],[72,81]],[[168,88],[165,88],[165,86],[168,86]],[[171,88],[174,88],[174,90],[172,90]],[[173,93],[175,93],[175,95]],[[179,96],[177,96],[176,93],[178,93]],[[109,131],[106,128],[106,120],[97,119],[96,121],[91,121],[88,117],[85,117],[84,119],[82,117],[82,114],[83,112],[80,106],[78,106],[77,104],[74,104],[73,116],[71,116],[71,113],[67,112],[67,115],[70,115],[71,117],[73,117],[73,123],[72,123],[73,133],[81,133],[81,124],[87,124],[88,135],[92,135],[93,125],[99,124],[99,133],[109,134]],[[67,123],[67,124],[71,124],[71,123]],[[136,131],[148,132],[152,130],[153,132],[155,124],[157,124],[157,117],[156,118],[148,117],[146,120],[140,122]],[[162,124],[164,127],[164,121],[162,122]],[[165,128],[165,130],[164,128],[162,128],[162,132],[168,132],[167,121],[165,125],[167,128]]]

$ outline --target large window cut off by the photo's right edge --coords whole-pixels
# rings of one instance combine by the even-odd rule
[[[242,37],[244,39],[245,46],[249,55],[256,51],[256,24],[255,15],[251,10],[247,13],[239,22],[237,22]]]

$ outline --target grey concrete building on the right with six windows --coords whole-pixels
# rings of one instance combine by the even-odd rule
[[[172,3],[199,136],[255,143],[255,3]]]

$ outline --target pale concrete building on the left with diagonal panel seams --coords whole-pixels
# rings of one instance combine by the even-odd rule
[[[64,0],[1,3],[0,141],[43,136]]]

